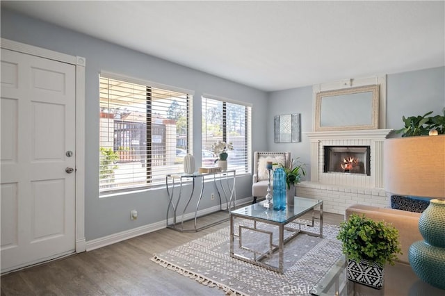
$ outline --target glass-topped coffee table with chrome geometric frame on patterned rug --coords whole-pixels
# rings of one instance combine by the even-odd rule
[[[315,209],[318,207],[319,211],[316,217]],[[311,212],[312,223],[302,224],[295,221],[302,215]],[[238,220],[237,231],[235,231],[236,218],[241,218]],[[314,220],[319,220],[317,232],[301,229],[302,225],[314,227]],[[259,227],[261,222],[277,227]],[[291,227],[289,225],[291,222],[296,222],[298,227]],[[284,232],[286,232],[286,236]],[[323,200],[295,197],[294,204],[286,204],[286,209],[282,211],[275,211],[261,204],[238,208],[230,212],[230,256],[283,273],[284,245],[300,233],[323,238]],[[238,241],[237,250],[242,252],[235,250],[235,239]],[[266,263],[265,261],[270,259],[275,252],[278,252],[277,266]]]

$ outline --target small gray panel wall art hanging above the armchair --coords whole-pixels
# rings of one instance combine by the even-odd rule
[[[300,142],[300,113],[273,117],[275,143]]]

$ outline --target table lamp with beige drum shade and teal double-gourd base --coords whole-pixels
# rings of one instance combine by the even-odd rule
[[[419,278],[445,289],[445,135],[430,134],[385,140],[385,190],[433,198],[419,219],[423,240],[411,245],[408,258]]]

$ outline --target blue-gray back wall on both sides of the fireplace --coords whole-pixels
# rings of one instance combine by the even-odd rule
[[[343,77],[344,78],[344,77]],[[342,79],[339,77],[339,79]],[[387,75],[387,129],[401,129],[402,116],[443,115],[445,107],[445,67]],[[304,132],[313,131],[312,86],[269,93],[268,147],[273,151],[291,151],[293,158],[300,157],[307,163],[305,180],[310,179],[310,142]],[[301,113],[301,142],[275,143],[273,141],[273,116]]]

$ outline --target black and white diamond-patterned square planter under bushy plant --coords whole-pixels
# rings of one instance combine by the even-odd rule
[[[362,283],[375,289],[383,287],[383,276],[385,271],[382,265],[373,261],[348,260],[348,279]]]

